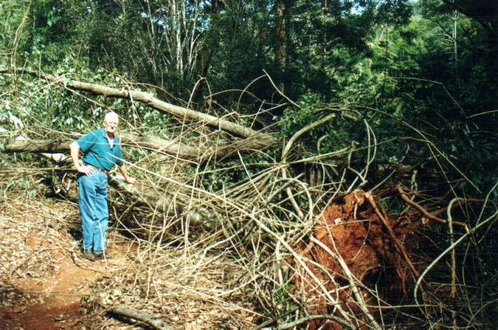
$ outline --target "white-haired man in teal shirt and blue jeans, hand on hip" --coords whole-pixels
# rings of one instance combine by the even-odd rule
[[[101,260],[105,255],[105,230],[109,221],[107,207],[107,174],[118,165],[128,184],[136,180],[128,177],[123,153],[114,136],[119,117],[109,112],[104,118],[104,128],[94,130],[70,144],[71,158],[78,170],[78,202],[83,228],[83,257]],[[79,151],[83,151],[83,165],[79,163]]]

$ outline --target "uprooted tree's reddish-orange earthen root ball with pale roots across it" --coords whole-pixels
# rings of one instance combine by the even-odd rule
[[[344,196],[343,200],[325,209],[314,228],[311,242],[306,246],[300,244],[298,250],[300,255],[309,260],[309,268],[325,283],[325,288],[335,291],[340,297],[343,308],[356,310],[356,327],[379,328],[368,307],[372,305],[372,296],[363,289],[363,279],[386,263],[396,268],[396,273],[403,279],[406,266],[400,262],[403,259],[401,253],[396,253],[392,248],[396,236],[392,230],[385,233],[386,226],[368,204],[367,194],[354,191]],[[298,274],[295,277],[297,288],[309,296],[307,301],[315,301],[309,304],[310,314],[333,315],[336,306],[327,302],[306,274]],[[322,321],[313,319],[310,324],[311,329],[316,329]],[[330,323],[325,329],[342,329],[342,325]]]

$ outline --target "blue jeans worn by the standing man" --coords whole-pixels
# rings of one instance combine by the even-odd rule
[[[83,249],[100,253],[106,249],[105,230],[109,222],[107,175],[94,171],[90,176],[78,174],[79,214],[83,228]]]

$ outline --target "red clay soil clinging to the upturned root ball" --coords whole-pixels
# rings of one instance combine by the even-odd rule
[[[330,251],[341,256],[347,268],[360,282],[369,273],[374,273],[386,265],[393,266],[401,280],[406,276],[405,263],[394,249],[379,217],[366,200],[364,191],[354,191],[344,196],[341,201],[330,204],[314,228],[314,237]],[[336,285],[348,284],[344,270],[325,249],[310,243],[298,247],[297,250],[326,269],[323,270],[313,263],[307,265],[318,280],[324,283],[327,291],[333,292]],[[330,280],[330,275],[334,281]],[[316,288],[315,282],[307,273],[302,271],[300,276],[296,276],[295,284],[300,291],[305,292],[308,301],[312,302],[309,304],[311,315],[332,312],[320,294],[321,289]],[[368,296],[363,291],[361,293]],[[365,300],[368,301],[368,298]],[[353,310],[356,315],[363,315],[354,302],[350,288],[339,291],[339,301],[342,301],[344,310]],[[367,322],[367,319],[362,321]],[[317,329],[319,326],[324,326],[323,329],[342,329],[339,324],[323,324],[320,320],[311,322],[309,326],[309,329]]]

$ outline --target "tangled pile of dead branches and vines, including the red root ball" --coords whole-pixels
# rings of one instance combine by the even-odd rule
[[[296,132],[282,151],[265,153],[263,147],[275,146],[274,137],[241,129],[227,119],[183,111],[138,91],[63,82],[44,74],[41,78],[69,90],[145,102],[173,116],[188,116],[191,122],[183,123],[171,143],[131,132],[123,134],[128,147],[140,152],[140,161],[130,163],[130,167],[142,179],[137,186],[114,179],[116,191],[111,200],[116,221],[140,245],[135,264],[140,275],[134,282],[141,285],[130,292],[143,300],[168,305],[166,298],[173,290],[180,296],[195,295],[200,301],[219,303],[223,308],[246,310],[244,315],[250,317],[239,320],[239,325],[257,323],[280,329],[304,325],[310,329],[381,329],[399,322],[422,327],[472,326],[477,319],[485,323],[483,308],[492,300],[489,284],[481,289],[489,298],[475,301],[469,298],[474,296],[474,284],[457,282],[456,263],[447,267],[438,261],[453,256],[463,245],[478,249],[469,238],[485,238],[482,230],[497,219],[495,205],[488,199],[479,201],[483,207],[476,219],[454,221],[451,212],[457,207],[455,201],[448,205],[441,200],[436,206],[446,203],[443,209],[447,210],[447,219],[440,219],[437,209],[414,202],[417,191],[408,193],[400,186],[383,193],[405,202],[408,209],[389,214],[389,209],[380,206],[382,194],[375,189],[362,190],[373,170],[377,140],[369,123],[358,116],[341,118],[362,123],[368,136],[361,169],[351,163],[351,156],[358,152],[354,144],[327,154],[313,153],[300,145],[309,130],[342,114],[339,108],[329,109]],[[213,132],[208,126],[219,131]],[[181,142],[181,150],[187,150],[184,143],[194,141],[191,131],[201,136],[196,142],[207,143],[216,135],[219,143],[204,144],[208,153],[201,150],[204,147],[196,147],[193,152],[170,149]],[[237,137],[227,139],[227,132]],[[28,150],[13,139],[19,134],[35,135],[27,125],[15,134],[5,132],[6,151]],[[36,150],[34,145],[43,148]],[[39,142],[29,144],[29,151],[61,151],[61,146],[65,144],[54,148]],[[243,157],[243,153],[248,156]],[[226,163],[220,162],[222,158]],[[297,170],[305,167],[314,169],[312,175]],[[63,169],[59,167],[58,171]],[[213,184],[213,177],[234,172],[243,175],[235,182]],[[411,186],[416,180],[414,174]],[[68,192],[75,188],[71,175],[61,184],[69,187]],[[460,206],[467,202],[456,201]],[[417,233],[427,225],[426,219],[442,220],[437,226],[450,228],[450,246],[438,243],[433,247],[440,253],[436,259],[428,259],[417,247],[421,242]],[[456,233],[452,226],[458,226]],[[220,269],[222,273],[217,273]],[[429,276],[432,270],[437,270],[433,277]],[[448,270],[450,278],[445,276]],[[199,276],[211,271],[217,273],[217,284],[198,289],[195,283],[202,282]],[[121,280],[123,285],[131,281],[127,277]],[[436,288],[437,281],[442,282]],[[189,284],[179,284],[184,282]],[[447,306],[450,298],[452,305]],[[252,303],[244,305],[241,301]],[[467,304],[469,301],[472,304]]]

